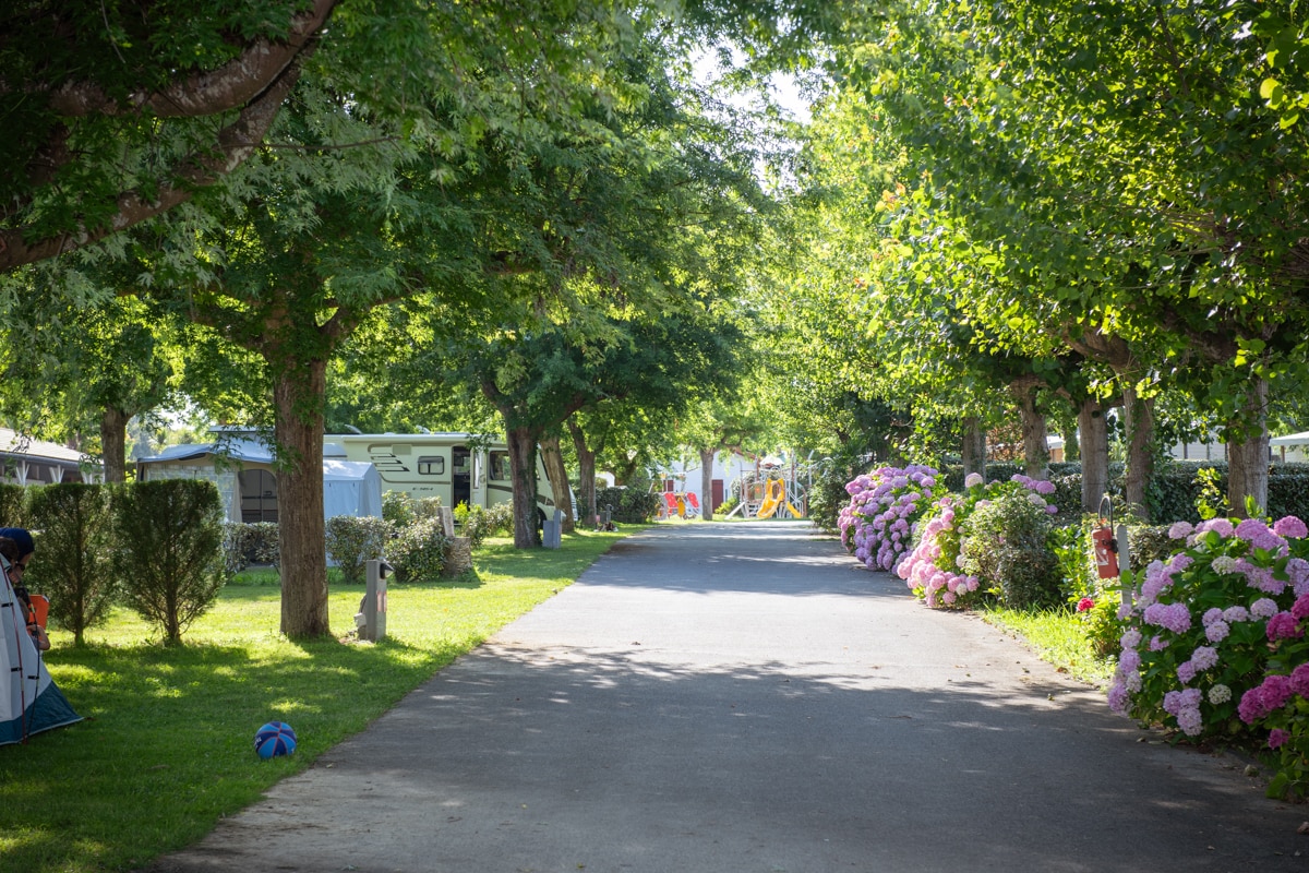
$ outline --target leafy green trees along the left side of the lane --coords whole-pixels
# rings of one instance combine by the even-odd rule
[[[27,13],[0,37],[7,418],[98,442],[110,480],[161,403],[267,428],[288,635],[329,632],[330,424],[505,431],[531,546],[538,444],[593,462],[736,386],[766,119],[685,59],[767,45],[768,4]]]

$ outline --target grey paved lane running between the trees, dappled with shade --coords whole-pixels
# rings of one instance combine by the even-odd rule
[[[158,870],[1304,870],[1172,749],[801,522],[623,541]]]

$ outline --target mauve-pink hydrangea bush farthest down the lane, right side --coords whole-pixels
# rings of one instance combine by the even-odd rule
[[[914,524],[932,503],[936,470],[880,467],[846,486],[850,504],[836,526],[840,542],[869,569],[894,569],[912,542]]]

